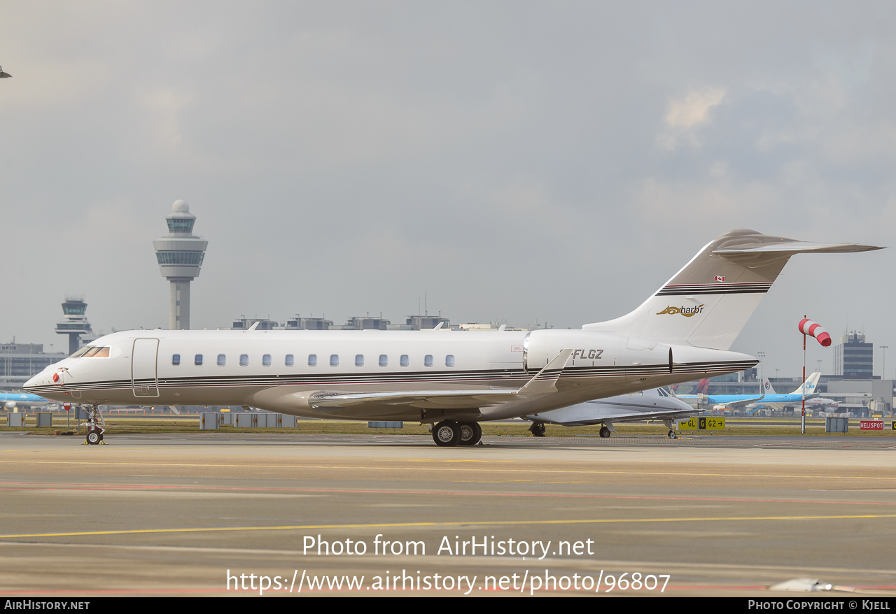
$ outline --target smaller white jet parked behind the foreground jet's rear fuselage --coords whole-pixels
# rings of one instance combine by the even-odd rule
[[[601,424],[600,437],[609,437],[611,431],[616,432],[613,422],[661,420],[666,423],[669,430],[668,437],[675,439],[676,432],[672,428],[672,421],[690,418],[695,414],[700,414],[700,411],[684,401],[679,401],[663,388],[653,388],[629,395],[586,401],[550,412],[539,412],[527,415],[523,420],[532,422],[530,431],[536,437],[544,435],[546,423],[562,426]]]

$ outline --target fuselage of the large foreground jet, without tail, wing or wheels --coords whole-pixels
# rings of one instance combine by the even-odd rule
[[[315,418],[494,420],[748,369],[752,356],[585,330],[136,330],[66,358],[25,388],[82,405],[249,405]],[[458,409],[422,400],[315,407],[321,391],[519,389],[572,349],[556,391]],[[54,380],[54,376],[56,379]]]

